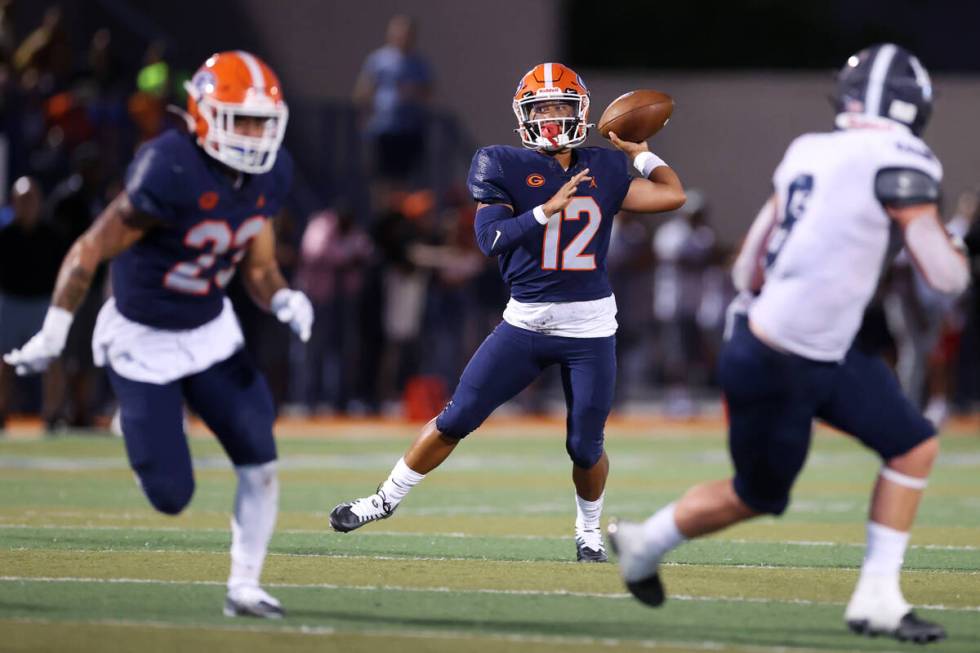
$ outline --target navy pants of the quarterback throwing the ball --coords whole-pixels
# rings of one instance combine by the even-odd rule
[[[466,365],[436,428],[452,438],[466,437],[551,365],[561,366],[568,409],[565,449],[578,467],[594,466],[602,457],[616,386],[615,336],[549,336],[501,322]]]

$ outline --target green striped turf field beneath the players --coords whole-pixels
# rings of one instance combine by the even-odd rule
[[[0,441],[3,651],[902,651],[851,635],[843,610],[862,556],[873,456],[814,441],[794,503],[689,544],[650,610],[614,565],[574,560],[573,490],[555,427],[488,427],[390,520],[327,530],[372,491],[414,427],[280,437],[282,500],[265,584],[282,622],[221,616],[233,474],[193,441],[197,491],[177,518],[149,508],[112,438]],[[728,474],[720,429],[612,427],[606,515],[643,518]],[[903,587],[950,639],[980,651],[980,437],[947,438]]]

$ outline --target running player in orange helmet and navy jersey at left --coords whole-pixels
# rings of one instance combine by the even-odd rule
[[[92,347],[130,464],[154,508],[181,512],[194,492],[183,402],[201,416],[238,476],[224,612],[277,618],[259,587],[279,500],[275,415],[224,288],[241,268],[256,303],[309,338],[312,306],[279,271],[270,221],[292,176],[280,149],[288,111],[276,75],[247,52],[213,55],[186,88],[192,133],[140,148],[125,190],[65,257],[41,331],[4,360],[27,374],[57,358],[96,267],[112,259]]]

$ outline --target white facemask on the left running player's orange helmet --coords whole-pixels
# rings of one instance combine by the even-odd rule
[[[285,102],[275,102],[264,94],[251,91],[241,103],[220,102],[197,88],[186,85],[198,114],[207,123],[206,134],[198,139],[209,155],[230,168],[247,174],[262,174],[272,169],[286,134],[289,109]],[[197,94],[198,97],[194,97]],[[264,121],[260,136],[239,133],[236,119],[253,118]]]

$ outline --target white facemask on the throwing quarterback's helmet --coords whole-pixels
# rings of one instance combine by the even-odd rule
[[[555,110],[559,106],[568,109]],[[545,107],[553,107],[549,115],[541,115]],[[567,115],[565,115],[567,114]],[[589,127],[589,97],[575,91],[544,88],[535,94],[514,100],[521,144],[532,150],[559,152],[585,142]]]

